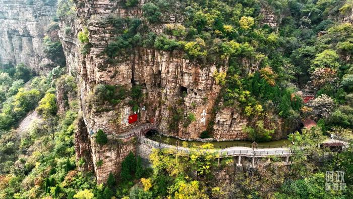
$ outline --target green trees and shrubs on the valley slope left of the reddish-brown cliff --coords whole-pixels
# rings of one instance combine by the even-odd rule
[[[16,67],[16,70],[19,68],[23,70],[24,66]],[[6,93],[12,96],[2,102],[0,115],[4,146],[0,149],[2,198],[38,198],[46,194],[57,198],[73,198],[77,192],[74,189],[89,185],[82,184],[80,179],[84,176],[77,172],[73,156],[77,107],[71,107],[72,110],[60,116],[56,115],[55,82],[62,72],[62,68],[56,67],[47,77],[34,77],[24,87],[23,80],[21,84],[16,83],[19,81],[16,80],[17,89]],[[23,76],[31,78],[28,75],[26,73]],[[76,89],[75,85],[70,84],[70,78],[61,78],[60,81],[67,83],[67,90],[70,90],[69,87]],[[36,109],[41,120],[33,122],[21,134],[12,129],[33,109]],[[72,183],[72,186],[65,187],[61,184],[63,182]]]

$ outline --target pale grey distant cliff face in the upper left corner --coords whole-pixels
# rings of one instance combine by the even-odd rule
[[[48,71],[43,38],[55,13],[56,0],[1,0],[0,63],[24,63],[36,72]]]

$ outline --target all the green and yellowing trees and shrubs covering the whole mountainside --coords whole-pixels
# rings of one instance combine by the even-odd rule
[[[26,3],[33,5],[33,1]],[[51,3],[44,1],[45,5]],[[75,4],[72,0],[58,1],[57,17],[76,16]],[[76,6],[86,4],[89,2],[79,1]],[[150,157],[151,168],[145,168],[143,160],[131,152],[122,161],[120,173],[110,173],[106,183],[96,184],[93,174],[79,171],[89,163],[83,158],[75,162],[79,106],[69,103],[68,97],[77,94],[75,78],[62,76],[60,67],[47,77],[33,77],[23,64],[6,64],[0,73],[0,198],[353,197],[353,143],[339,153],[317,147],[329,134],[353,137],[353,25],[343,22],[351,15],[350,1],[152,0],[141,8],[138,4],[124,0],[117,6],[126,9],[129,16],[132,9],[141,9],[141,18],[111,15],[99,24],[109,26],[105,31],[113,38],[99,55],[105,63],[98,70],[119,67],[140,48],[165,51],[170,57],[177,52],[175,55],[183,54],[203,68],[226,68],[212,74],[221,86],[216,104],[220,103],[212,114],[222,108],[241,114],[249,121],[243,132],[256,142],[273,139],[277,131],[289,132],[292,156],[288,165],[266,163],[240,172],[231,158],[217,162],[217,157],[207,151],[213,149],[212,144],[205,144],[189,156],[155,150]],[[272,14],[276,24],[266,23]],[[173,17],[178,23],[166,24]],[[48,30],[55,28],[54,23]],[[84,56],[92,47],[89,28],[83,27],[77,35]],[[44,45],[45,55],[55,65],[64,66],[60,42],[45,38]],[[148,94],[145,85],[139,83],[133,77],[131,89],[98,84],[88,93],[89,107],[97,108],[96,113],[105,111],[99,107],[114,110],[128,99],[129,106],[137,111]],[[62,114],[57,114],[57,87],[64,94],[60,100],[69,107]],[[179,106],[185,103],[187,90],[181,87],[180,98],[168,107],[168,130],[172,132],[188,128],[196,120],[192,112],[195,103],[187,108]],[[304,103],[303,90],[316,98]],[[159,103],[163,105],[163,101]],[[25,133],[17,133],[14,128],[18,122],[34,109],[42,121]],[[301,129],[303,119],[314,119],[318,125]],[[285,129],[280,128],[283,126]],[[292,133],[295,130],[300,132]],[[200,137],[212,137],[212,128]],[[98,148],[110,142],[121,144],[108,140],[102,130],[95,134],[95,141]],[[97,168],[105,164],[105,159],[99,158],[93,163]],[[269,158],[280,162],[278,157]],[[345,172],[346,190],[325,191],[325,171],[331,170]]]

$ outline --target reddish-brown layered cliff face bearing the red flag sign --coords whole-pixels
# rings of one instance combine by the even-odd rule
[[[221,98],[221,86],[216,83],[213,74],[215,71],[227,70],[226,60],[217,67],[213,63],[201,66],[185,59],[184,53],[180,51],[163,52],[138,47],[123,62],[105,62],[106,58],[102,56],[102,52],[116,35],[110,33],[111,27],[104,23],[104,19],[111,15],[141,18],[143,4],[144,1],[140,1],[136,7],[124,9],[120,6],[120,1],[75,1],[77,16],[62,18],[60,21],[59,35],[68,71],[77,74],[81,111],[87,128],[79,128],[76,133],[78,158],[82,158],[85,153],[91,155],[91,158],[84,157],[91,159],[98,183],[106,180],[109,173],[117,174],[122,160],[130,151],[136,151],[133,138],[120,139],[119,135],[149,122],[151,118],[158,123],[159,132],[168,136],[195,139],[202,131],[213,127],[217,140],[247,138],[242,128],[249,121],[242,116],[241,111],[229,108],[214,111]],[[162,16],[162,19],[162,24],[152,25],[149,29],[160,33],[165,24],[182,21],[178,13],[168,13]],[[83,44],[77,39],[78,32],[84,27],[88,28],[91,43],[91,48],[85,56],[80,51]],[[252,65],[254,70],[258,67],[256,63],[248,64]],[[98,106],[93,100],[98,84],[121,85],[127,89],[141,85],[144,96],[136,112],[138,121],[128,123],[128,117],[134,114],[129,105],[130,96],[114,106]],[[175,112],[183,119],[177,125],[171,126]],[[184,120],[190,114],[194,115],[195,119],[185,125]],[[98,129],[108,134],[107,145],[95,144],[94,136]],[[80,138],[83,133],[89,134],[86,141]],[[84,142],[86,143],[83,144]],[[98,161],[102,161],[101,166],[97,166]],[[90,166],[85,169],[90,169]]]

